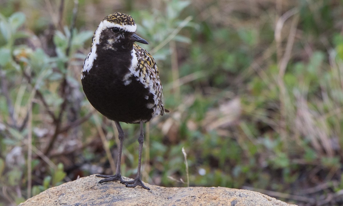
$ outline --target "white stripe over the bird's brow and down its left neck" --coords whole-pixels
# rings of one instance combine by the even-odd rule
[[[91,52],[88,53],[88,56],[83,63],[82,72],[88,73],[93,66],[94,59],[96,59],[96,57],[97,57],[96,45],[99,44],[99,37],[100,37],[101,32],[106,28],[113,28],[113,27],[121,28],[127,32],[135,32],[137,29],[136,24],[134,24],[134,25],[119,25],[119,24],[116,24],[113,22],[109,22],[107,20],[100,22],[100,24],[99,24],[99,26],[98,26],[98,28],[95,31],[94,36],[93,36]],[[137,60],[137,57],[136,57],[136,60]],[[83,78],[84,78],[84,75],[81,75],[81,79],[83,79]]]

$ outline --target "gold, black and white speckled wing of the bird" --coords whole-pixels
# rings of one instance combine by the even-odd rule
[[[150,88],[150,92],[154,94],[155,104],[157,106],[155,113],[156,115],[163,115],[165,111],[163,106],[163,93],[162,84],[159,80],[159,72],[156,66],[154,58],[149,52],[147,52],[142,47],[137,44],[133,44],[133,48],[136,52],[138,58],[138,66],[136,71],[138,71],[140,77],[147,87]]]

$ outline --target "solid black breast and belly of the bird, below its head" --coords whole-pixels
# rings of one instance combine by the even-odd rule
[[[106,50],[97,54],[93,67],[81,80],[87,99],[94,108],[107,118],[126,123],[147,122],[152,118],[154,104],[149,88],[132,76],[131,83],[124,85],[123,77],[131,66],[131,52],[118,53]]]

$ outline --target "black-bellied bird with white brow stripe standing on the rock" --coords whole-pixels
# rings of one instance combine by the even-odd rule
[[[104,178],[98,183],[120,181],[126,187],[141,186],[150,190],[141,180],[143,124],[158,115],[169,112],[163,106],[162,84],[152,55],[135,42],[148,44],[135,32],[133,18],[116,12],[106,16],[95,29],[91,51],[84,60],[81,83],[86,98],[102,115],[115,122],[119,149],[114,175],[97,174]],[[120,160],[124,132],[120,122],[140,124],[137,176],[124,181]]]

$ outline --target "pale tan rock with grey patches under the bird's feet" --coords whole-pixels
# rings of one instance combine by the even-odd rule
[[[125,187],[119,182],[98,184],[101,178],[91,175],[52,187],[19,206],[109,206],[109,205],[230,205],[290,206],[273,197],[249,190],[226,187],[160,187],[149,185]],[[126,178],[123,178],[126,180]],[[294,205],[293,205],[294,206]]]

